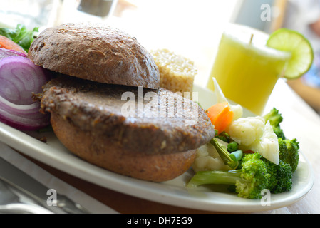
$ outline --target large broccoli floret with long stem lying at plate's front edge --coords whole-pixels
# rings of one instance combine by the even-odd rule
[[[261,199],[262,190],[280,193],[291,190],[291,167],[280,161],[275,165],[259,153],[242,157],[241,169],[197,172],[188,187],[206,184],[232,185],[239,197]]]

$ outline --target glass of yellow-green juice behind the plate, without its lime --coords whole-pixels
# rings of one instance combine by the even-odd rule
[[[222,35],[207,88],[214,90],[215,77],[227,98],[262,115],[291,57],[290,53],[267,48],[267,38],[266,33],[246,26],[228,28]]]

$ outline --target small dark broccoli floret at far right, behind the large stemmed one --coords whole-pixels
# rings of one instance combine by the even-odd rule
[[[279,142],[279,159],[291,166],[292,172],[296,171],[299,163],[299,142],[293,140],[278,139]]]

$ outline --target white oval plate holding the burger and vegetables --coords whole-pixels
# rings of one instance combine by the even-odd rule
[[[199,92],[202,107],[207,108],[215,103],[215,95],[210,90],[195,86],[195,91]],[[246,112],[244,115],[250,113]],[[61,145],[53,133],[41,135],[46,136],[46,143],[36,139],[39,136],[37,133],[23,133],[0,123],[0,140],[36,160],[111,190],[178,207],[212,212],[259,212],[276,209],[299,201],[311,190],[314,182],[311,165],[301,153],[299,167],[293,177],[292,190],[271,195],[270,205],[262,206],[261,200],[239,198],[228,192],[225,187],[202,186],[195,190],[188,189],[185,185],[192,177],[192,170],[175,180],[162,183],[145,182],[118,175],[76,157]]]

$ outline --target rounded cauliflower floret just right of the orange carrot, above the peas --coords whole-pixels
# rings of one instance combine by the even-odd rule
[[[232,140],[247,150],[254,142],[259,142],[264,134],[264,118],[260,116],[239,118],[232,121],[227,133]]]

